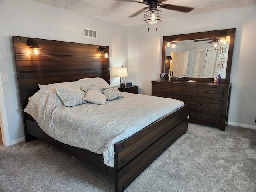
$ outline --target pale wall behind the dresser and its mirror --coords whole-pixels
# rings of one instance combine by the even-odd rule
[[[210,30],[236,28],[230,82],[232,82],[228,124],[256,129],[256,6],[202,14],[128,30],[128,81],[140,93],[151,95],[151,81],[159,79],[162,37]]]

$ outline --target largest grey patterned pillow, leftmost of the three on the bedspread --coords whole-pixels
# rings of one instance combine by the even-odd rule
[[[58,88],[56,91],[63,104],[67,107],[87,103],[87,101],[82,99],[84,98],[84,92],[80,89]]]

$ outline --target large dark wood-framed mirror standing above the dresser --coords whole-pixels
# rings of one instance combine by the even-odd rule
[[[229,82],[235,31],[222,29],[164,36],[162,73],[204,82],[212,82],[216,73],[220,74],[221,82]]]

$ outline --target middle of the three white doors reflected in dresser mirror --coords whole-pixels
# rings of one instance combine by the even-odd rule
[[[188,77],[200,77],[204,51],[193,51],[188,54]]]

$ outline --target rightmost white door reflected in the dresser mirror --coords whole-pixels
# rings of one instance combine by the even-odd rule
[[[207,50],[204,65],[204,78],[213,78],[218,56],[218,49]]]

